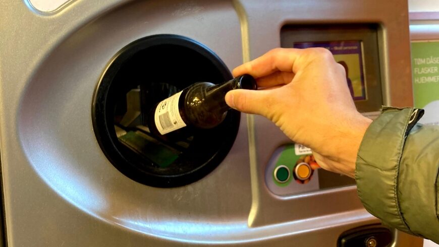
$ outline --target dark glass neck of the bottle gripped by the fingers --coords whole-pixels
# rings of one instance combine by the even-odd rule
[[[217,104],[214,110],[225,112],[230,109],[230,106],[226,103],[226,94],[234,89],[256,90],[256,81],[250,75],[242,75],[223,84],[211,86],[206,90],[206,101],[216,102]]]

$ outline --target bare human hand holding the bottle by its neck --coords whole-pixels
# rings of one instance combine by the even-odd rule
[[[357,151],[371,120],[352,100],[342,65],[324,48],[276,48],[233,70],[252,75],[259,90],[232,90],[226,102],[274,122],[313,150],[324,169],[354,177]]]

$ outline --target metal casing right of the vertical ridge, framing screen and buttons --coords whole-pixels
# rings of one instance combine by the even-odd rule
[[[243,9],[248,15],[249,43],[251,58],[255,58],[270,48],[280,46],[280,29],[285,25],[306,23],[379,23],[378,44],[380,45],[382,83],[385,102],[394,106],[412,105],[412,87],[410,70],[410,43],[408,32],[408,12],[406,3],[401,1],[367,1],[359,5],[349,1],[278,1],[276,5],[266,5],[264,1],[242,1]],[[343,14],[339,12],[343,6]],[[393,11],[389,12],[392,9]],[[334,13],[339,13],[334,15]],[[266,38],[270,37],[270,38]],[[257,177],[252,179],[253,204],[249,225],[259,226],[275,222],[298,220],[310,215],[331,214],[362,208],[357,199],[355,187],[307,194],[291,199],[273,197],[263,187],[263,166],[266,164],[280,143],[288,142],[281,131],[268,120],[255,120],[255,148],[258,165],[251,169]],[[250,144],[252,146],[252,144]],[[310,199],[312,198],[312,199]],[[326,207],[325,200],[334,201],[335,205]],[[315,204],[315,202],[321,202]],[[304,211],[313,208],[313,212],[303,214],[272,215],[269,210],[284,212],[286,210]]]

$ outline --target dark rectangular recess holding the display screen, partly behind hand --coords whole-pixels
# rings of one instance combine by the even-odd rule
[[[281,46],[323,47],[346,71],[346,81],[360,112],[379,111],[382,101],[378,25],[287,25]]]

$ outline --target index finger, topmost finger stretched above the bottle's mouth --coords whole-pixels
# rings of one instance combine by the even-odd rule
[[[250,74],[259,78],[276,71],[292,72],[293,65],[302,51],[302,49],[295,48],[272,49],[262,56],[238,66],[233,70],[233,75]]]

